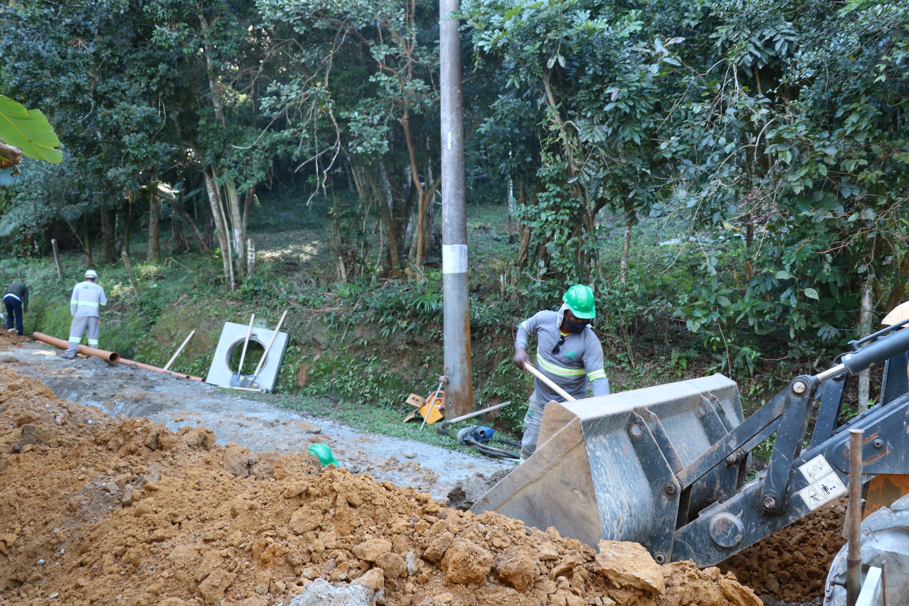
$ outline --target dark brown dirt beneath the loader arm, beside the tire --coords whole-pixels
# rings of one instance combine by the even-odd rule
[[[846,499],[809,513],[720,564],[762,597],[807,601],[824,596],[830,563],[845,540]]]

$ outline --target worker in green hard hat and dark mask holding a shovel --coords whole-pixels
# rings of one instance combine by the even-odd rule
[[[535,367],[546,378],[580,400],[587,397],[589,384],[594,396],[609,394],[609,379],[603,369],[603,345],[590,322],[596,317],[594,292],[584,284],[574,284],[562,296],[558,312],[545,310],[518,324],[514,340],[514,365],[524,370],[531,364],[527,354],[530,335],[536,335]],[[534,392],[524,416],[521,461],[536,450],[540,422],[548,402],[564,402],[552,388],[534,379]]]

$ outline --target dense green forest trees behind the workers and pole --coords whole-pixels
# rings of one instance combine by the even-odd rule
[[[904,301],[906,3],[463,0],[459,16],[472,192],[514,216],[502,313],[589,283],[605,329],[681,323],[734,372],[816,364]],[[0,234],[28,253],[65,226],[113,262],[141,225],[155,261],[169,220],[175,251],[205,250],[234,290],[257,193],[295,182],[332,201],[339,279],[419,283],[445,204],[438,19],[426,0],[10,0],[0,94],[45,114],[63,162],[23,162]],[[628,258],[643,223],[678,234],[663,267]]]

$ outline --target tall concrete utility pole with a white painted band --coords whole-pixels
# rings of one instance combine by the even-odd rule
[[[473,412],[467,215],[464,186],[464,108],[461,103],[459,0],[439,2],[439,90],[442,111],[442,275],[445,315],[445,415]]]

